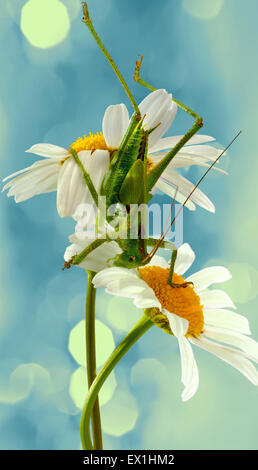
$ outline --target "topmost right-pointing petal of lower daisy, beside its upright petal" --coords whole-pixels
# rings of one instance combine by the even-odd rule
[[[227,268],[224,268],[223,266],[212,266],[192,274],[186,280],[188,282],[193,282],[194,288],[197,291],[201,291],[209,287],[211,284],[216,282],[225,282],[231,278],[232,276]]]

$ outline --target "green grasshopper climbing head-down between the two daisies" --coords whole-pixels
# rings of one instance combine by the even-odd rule
[[[116,64],[114,63],[113,59],[105,49],[103,43],[101,42],[99,36],[97,35],[92,21],[89,16],[89,11],[86,2],[83,2],[83,19],[82,22],[88,27],[92,36],[94,37],[95,41],[97,42],[99,48],[103,52],[104,56],[110,63],[111,67],[113,68],[116,76],[120,80],[125,92],[127,93],[132,106],[134,108],[134,114],[131,118],[129,127],[127,132],[123,138],[123,141],[118,148],[117,151],[114,151],[111,155],[111,163],[104,176],[100,195],[106,197],[107,206],[112,204],[122,204],[127,211],[127,217],[125,218],[125,226],[126,228],[130,225],[130,205],[131,204],[147,204],[150,199],[152,198],[151,190],[162,175],[163,171],[167,168],[169,163],[172,161],[174,156],[179,152],[179,150],[191,139],[193,135],[198,132],[201,127],[203,126],[202,118],[189,109],[187,106],[183,105],[179,101],[173,99],[173,101],[185,112],[190,114],[194,119],[195,122],[190,130],[181,138],[181,140],[172,148],[164,158],[156,164],[148,173],[147,173],[147,152],[148,152],[148,137],[149,134],[154,130],[151,129],[146,131],[143,126],[143,119],[144,116],[141,116],[139,108],[136,104],[136,101],[126,84],[123,76],[121,75],[119,69],[117,68]],[[144,87],[149,88],[150,90],[154,91],[156,88],[149,85],[147,82],[140,78],[139,72],[142,63],[141,60],[137,60],[136,68],[134,73],[134,80],[139,84],[143,85]],[[78,155],[73,149],[70,149],[72,156],[76,163],[81,168],[83,173],[83,177],[85,183],[87,184],[92,198],[98,207],[98,194],[90,175],[86,172],[85,168],[81,164]],[[107,217],[107,222],[110,222],[112,217]],[[113,260],[114,266],[122,266],[126,268],[136,268],[139,266],[143,266],[147,264],[150,259],[151,255],[147,252],[147,247],[152,246],[154,247],[157,244],[157,240],[153,238],[142,238],[140,236],[142,226],[141,221],[139,220],[138,225],[138,233],[139,236],[137,239],[117,239],[117,243],[119,244],[120,248],[122,249],[122,254],[119,254]],[[80,264],[81,261],[88,256],[93,250],[95,250],[98,246],[102,243],[111,241],[109,237],[105,239],[97,239],[92,242],[85,250],[83,250],[80,254],[75,255],[68,264]],[[171,259],[171,273],[169,276],[169,283],[171,284],[172,281],[172,274],[173,274],[173,266],[176,257],[176,247],[173,243],[160,240],[158,246],[163,248],[172,249],[172,259]]]

